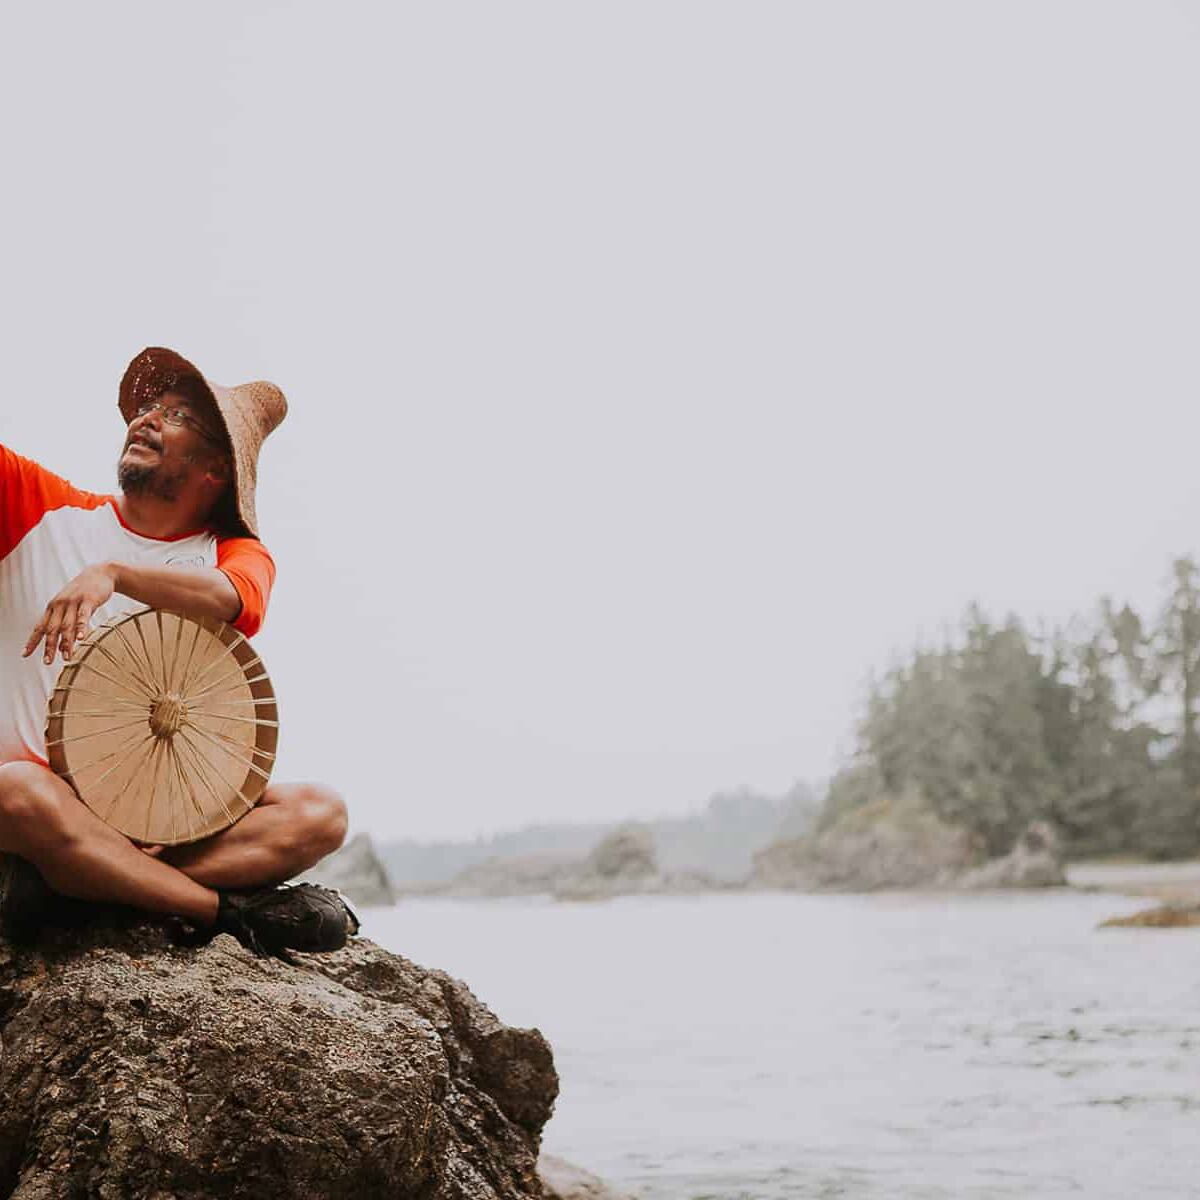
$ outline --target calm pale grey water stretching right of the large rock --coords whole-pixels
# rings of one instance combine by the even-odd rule
[[[1200,1196],[1200,930],[1146,901],[406,901],[365,932],[554,1046],[553,1153],[654,1198]]]

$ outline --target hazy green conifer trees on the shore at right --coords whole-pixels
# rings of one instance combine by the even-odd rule
[[[1033,635],[973,606],[960,636],[874,682],[852,764],[821,818],[916,796],[1008,851],[1031,820],[1072,854],[1200,850],[1200,569],[1172,564],[1144,620],[1104,599],[1086,622]]]

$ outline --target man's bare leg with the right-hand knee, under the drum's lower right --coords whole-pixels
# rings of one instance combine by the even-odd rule
[[[160,857],[206,887],[252,888],[299,875],[344,839],[346,804],[335,791],[274,784],[235,826],[187,846],[167,846]]]

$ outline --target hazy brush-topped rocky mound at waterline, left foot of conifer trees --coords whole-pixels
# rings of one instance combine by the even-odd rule
[[[752,883],[811,892],[944,887],[980,854],[974,834],[947,824],[920,803],[880,800],[828,829],[760,851]]]

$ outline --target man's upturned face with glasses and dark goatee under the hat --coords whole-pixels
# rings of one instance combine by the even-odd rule
[[[182,424],[168,419],[181,415]],[[148,412],[130,421],[116,464],[126,496],[178,500],[182,488],[221,457],[216,421],[184,396],[166,391]]]

